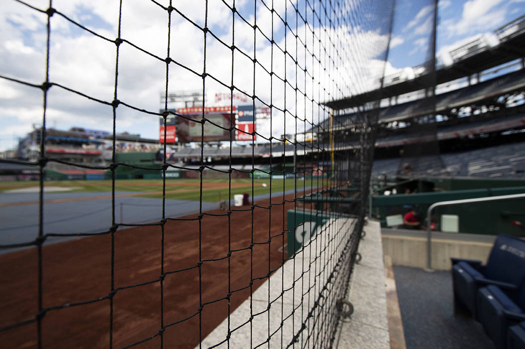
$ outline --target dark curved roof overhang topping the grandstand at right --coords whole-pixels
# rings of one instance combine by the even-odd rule
[[[437,68],[436,84],[463,78],[525,56],[525,16],[498,28],[495,33],[499,36],[499,45],[478,49],[469,47],[466,53],[451,66]],[[471,44],[469,43],[466,46],[468,45]],[[461,48],[457,50],[459,49]],[[476,51],[470,52],[472,49]],[[429,88],[432,86],[432,80],[429,78],[430,73],[423,73],[412,80],[383,86],[381,94],[379,90],[373,90],[341,100],[329,101],[324,105],[334,110],[357,107],[367,102],[377,101],[378,96],[383,99]]]

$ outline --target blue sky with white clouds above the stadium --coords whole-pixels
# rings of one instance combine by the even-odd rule
[[[25,2],[41,10],[49,6],[48,1]],[[168,5],[167,0],[156,2]],[[274,1],[272,16],[260,2],[255,9],[253,1],[237,0],[238,13],[260,29],[255,31],[255,46],[254,29],[250,25],[238,15],[234,16],[235,26],[232,25],[232,10],[226,6],[232,6],[231,2],[173,2],[176,10],[171,15],[170,57],[174,62],[169,65],[169,92],[202,91],[203,79],[198,74],[203,73],[205,64],[206,73],[211,75],[205,79],[207,105],[224,104],[216,102],[214,95],[230,92],[226,86],[232,84],[233,75],[234,85],[240,91],[236,93],[251,96],[255,92],[260,101],[289,111],[283,114],[276,110],[271,127],[268,119],[257,125],[261,135],[279,137],[285,131],[293,133],[297,128],[301,132],[305,124],[309,128],[308,123],[319,122],[328,113],[319,103],[370,89],[382,72],[389,13],[384,1],[348,1],[327,11],[350,20],[338,20],[331,15],[321,16],[319,23],[317,13],[324,9],[316,8],[313,14],[310,7],[310,3],[318,6],[317,2]],[[298,12],[292,3],[297,4]],[[53,7],[99,36],[70,23],[64,16],[52,16],[49,81],[93,99],[111,102],[115,90],[116,45],[110,40],[118,37],[119,2],[54,0]],[[523,14],[525,0],[440,0],[438,50],[450,50]],[[291,30],[285,30],[277,15],[286,16]],[[308,19],[308,25],[304,25],[301,16]],[[416,66],[426,59],[431,19],[431,1],[397,1],[391,54],[385,66],[387,74]],[[45,13],[14,0],[3,1],[0,13],[2,77],[31,84],[45,81],[46,24]],[[206,59],[201,29],[205,25],[215,36],[207,34]],[[168,28],[167,12],[154,2],[122,1],[120,33],[127,42],[122,43],[119,52],[117,95],[120,101],[150,112],[158,112],[163,107],[160,96],[166,86],[166,64],[159,58],[167,56]],[[272,37],[278,45],[273,49],[268,41]],[[223,44],[230,46],[232,42],[238,48],[234,51],[233,73],[232,50]],[[286,56],[284,50],[288,52]],[[253,62],[254,54],[257,64]],[[270,71],[274,74],[268,74]],[[16,139],[29,132],[33,125],[41,125],[43,115],[40,89],[2,77],[0,151],[12,148]],[[56,85],[49,89],[47,102],[47,127],[112,129],[112,109],[108,105]],[[158,116],[124,105],[117,108],[116,125],[117,132],[139,133],[147,138],[157,138],[159,133]]]

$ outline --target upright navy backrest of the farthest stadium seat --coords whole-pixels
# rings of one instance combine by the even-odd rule
[[[490,251],[485,276],[488,279],[521,285],[525,278],[525,241],[498,235]]]

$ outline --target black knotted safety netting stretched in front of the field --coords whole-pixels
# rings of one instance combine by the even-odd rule
[[[0,245],[11,270],[0,286],[2,343],[333,346],[365,224],[394,2],[120,1],[111,30],[58,2],[16,3],[46,18],[45,74],[0,71],[2,82],[41,93],[31,152],[0,159],[36,168],[39,187],[29,210],[38,219],[24,226],[31,238]],[[159,23],[162,35],[149,31]],[[134,27],[142,35],[128,35]],[[112,52],[111,76],[100,77],[109,92],[83,80],[89,59],[52,64],[65,28],[71,50],[87,46],[95,60]],[[158,99],[143,103],[149,90],[162,95],[160,111]],[[57,100],[79,124],[82,108],[95,108],[111,125],[100,154],[99,138],[49,124]],[[156,159],[143,156],[149,146],[125,146],[133,137],[122,127],[139,119],[160,126]],[[103,171],[106,196],[49,200],[48,179],[69,173],[82,187],[90,171]],[[93,198],[107,207],[81,221],[81,202]],[[64,202],[70,219],[57,225],[50,217]]]

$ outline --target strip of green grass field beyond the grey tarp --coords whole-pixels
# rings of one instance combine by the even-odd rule
[[[244,184],[244,185],[243,185]],[[270,193],[270,179],[254,179],[252,191],[251,179],[232,179],[232,188],[228,189],[228,181],[224,179],[203,180],[202,200],[217,202],[219,200],[233,199],[233,195],[248,193],[261,195]],[[266,186],[264,186],[266,184]],[[297,188],[301,190],[304,186],[310,188],[311,182],[306,183],[297,180]],[[317,187],[317,180],[313,186]],[[321,184],[319,182],[319,184]],[[45,186],[71,188],[68,192],[110,192],[112,190],[111,180],[64,180],[46,181]],[[271,193],[282,193],[291,190],[295,186],[294,179],[272,179]],[[0,182],[0,193],[12,189],[38,187],[38,181],[28,182]],[[213,188],[214,187],[214,188]],[[224,188],[223,188],[224,187]],[[201,183],[199,179],[168,179],[166,180],[166,199],[194,200],[198,201]],[[159,179],[120,179],[115,181],[115,191],[142,192],[144,197],[162,198],[162,180]]]

